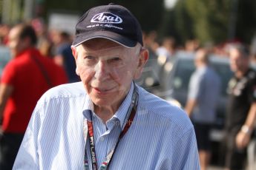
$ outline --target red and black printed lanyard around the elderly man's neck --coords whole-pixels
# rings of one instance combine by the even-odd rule
[[[136,114],[137,111],[137,100],[138,100],[138,96],[137,96],[137,87],[134,86],[134,92],[131,98],[131,105],[128,108],[128,112],[126,114],[126,117],[129,118],[128,120],[125,119],[126,123],[125,123],[125,127],[123,128],[122,132],[119,134],[118,140],[116,142],[116,145],[114,146],[113,149],[111,149],[111,152],[108,153],[107,157],[105,157],[104,162],[102,163],[102,165],[99,167],[99,169],[108,169],[108,165],[111,163],[112,157],[114,152],[116,151],[116,148],[119,144],[119,141],[122,139],[122,137],[125,135],[126,132],[128,132],[128,129],[131,126],[131,123],[134,120],[134,116]],[[92,115],[92,113],[91,113]],[[92,118],[92,116],[91,116]],[[97,163],[96,163],[96,152],[95,152],[95,145],[94,145],[94,137],[93,137],[93,122],[92,119],[91,120],[87,120],[87,125],[88,125],[88,137],[89,137],[89,141],[90,141],[90,150],[91,150],[91,163],[92,163],[92,167],[93,170],[97,170]],[[87,160],[87,156],[86,156],[86,147],[85,147],[85,169],[89,169],[88,166],[88,160]]]

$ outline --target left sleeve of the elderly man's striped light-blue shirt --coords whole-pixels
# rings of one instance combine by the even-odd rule
[[[38,136],[41,126],[40,110],[38,106],[33,112],[30,123],[27,126],[22,144],[16,156],[13,169],[39,169]]]

